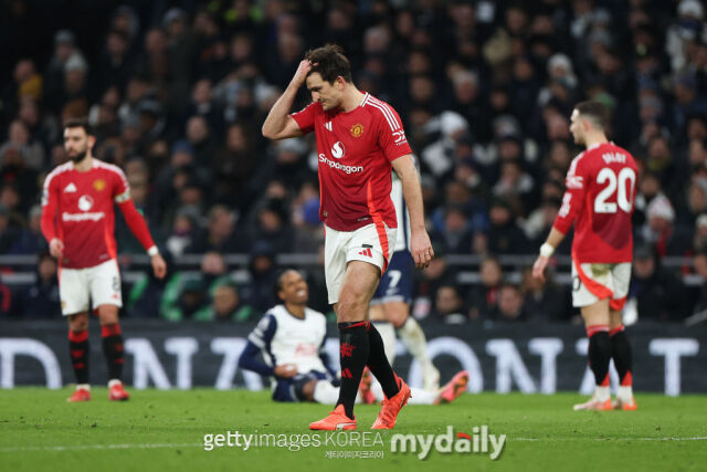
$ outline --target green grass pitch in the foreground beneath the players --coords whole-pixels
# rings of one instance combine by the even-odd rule
[[[130,390],[128,402],[108,402],[95,388],[93,401],[70,405],[68,389],[19,388],[0,391],[0,470],[95,471],[338,471],[405,470],[705,470],[706,397],[639,395],[639,411],[573,412],[574,394],[555,396],[464,395],[439,407],[405,407],[392,433],[441,434],[447,424],[473,433],[488,426],[507,434],[497,461],[488,453],[391,452],[392,433],[381,445],[325,444],[285,448],[215,448],[207,433],[312,434],[307,424],[329,410],[321,405],[282,405],[266,392]],[[358,406],[359,432],[370,431],[379,407]],[[349,433],[339,433],[349,434]],[[348,436],[350,438],[350,434]],[[361,437],[361,441],[363,438]],[[338,441],[342,439],[338,438]],[[370,434],[369,441],[377,442]],[[370,445],[370,444],[369,444]],[[330,451],[382,452],[382,459],[327,459]],[[89,468],[89,469],[88,469]],[[461,469],[463,468],[463,469]]]

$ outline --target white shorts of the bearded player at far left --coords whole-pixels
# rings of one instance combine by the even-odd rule
[[[118,262],[110,259],[93,268],[62,268],[59,272],[59,296],[64,316],[87,312],[88,301],[93,310],[99,305],[123,306]]]

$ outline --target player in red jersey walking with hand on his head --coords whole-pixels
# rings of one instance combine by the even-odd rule
[[[289,115],[303,84],[313,102]],[[309,428],[356,429],[354,402],[368,366],[386,395],[373,428],[391,429],[410,398],[410,387],[390,367],[368,307],[395,241],[391,168],[402,181],[415,265],[424,268],[434,256],[424,228],[418,170],[398,113],[354,85],[349,61],[336,45],[306,53],[263,124],[263,135],[271,139],[312,132],[319,159],[327,292],[339,327],[341,388],[335,410]]]

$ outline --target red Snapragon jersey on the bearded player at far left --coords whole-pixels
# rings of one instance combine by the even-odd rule
[[[117,256],[114,202],[130,199],[123,170],[93,159],[86,172],[62,164],[44,180],[42,212],[56,218],[56,237],[64,242],[63,268],[83,269]]]

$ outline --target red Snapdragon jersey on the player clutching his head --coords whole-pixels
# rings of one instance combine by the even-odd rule
[[[378,221],[397,228],[391,162],[412,154],[398,113],[367,93],[348,113],[314,102],[291,116],[317,138],[319,219],[337,231]]]

